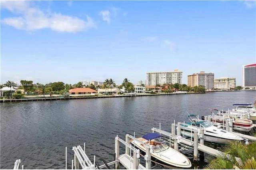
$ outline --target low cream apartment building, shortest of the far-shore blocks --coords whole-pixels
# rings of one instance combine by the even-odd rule
[[[214,79],[214,88],[222,90],[230,90],[236,87],[236,78],[221,77]]]

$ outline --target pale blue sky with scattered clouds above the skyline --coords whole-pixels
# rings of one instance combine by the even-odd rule
[[[256,63],[256,1],[1,1],[1,84],[235,77]]]

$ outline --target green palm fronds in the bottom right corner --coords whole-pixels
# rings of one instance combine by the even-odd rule
[[[206,169],[256,169],[256,142],[248,145],[240,141],[229,143]]]

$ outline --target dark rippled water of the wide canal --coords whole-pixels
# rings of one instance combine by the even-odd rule
[[[213,92],[176,96],[106,98],[1,103],[0,168],[12,169],[21,159],[26,169],[68,168],[72,147],[86,143],[86,154],[96,162],[114,160],[114,137],[140,137],[152,127],[170,131],[174,121],[186,121],[186,111],[208,115],[209,108],[228,109],[234,103],[256,100],[256,91]],[[192,160],[192,150],[183,152]],[[206,155],[206,160],[211,156]],[[143,158],[142,158],[143,159]],[[203,165],[204,163],[200,163]]]

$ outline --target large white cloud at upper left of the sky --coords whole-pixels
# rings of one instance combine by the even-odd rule
[[[78,32],[90,28],[96,28],[92,18],[87,16],[87,21],[74,16],[67,16],[52,12],[43,12],[38,8],[31,7],[28,1],[6,2],[1,8],[20,14],[19,17],[4,18],[2,23],[16,29],[36,30],[49,28],[59,32]]]

